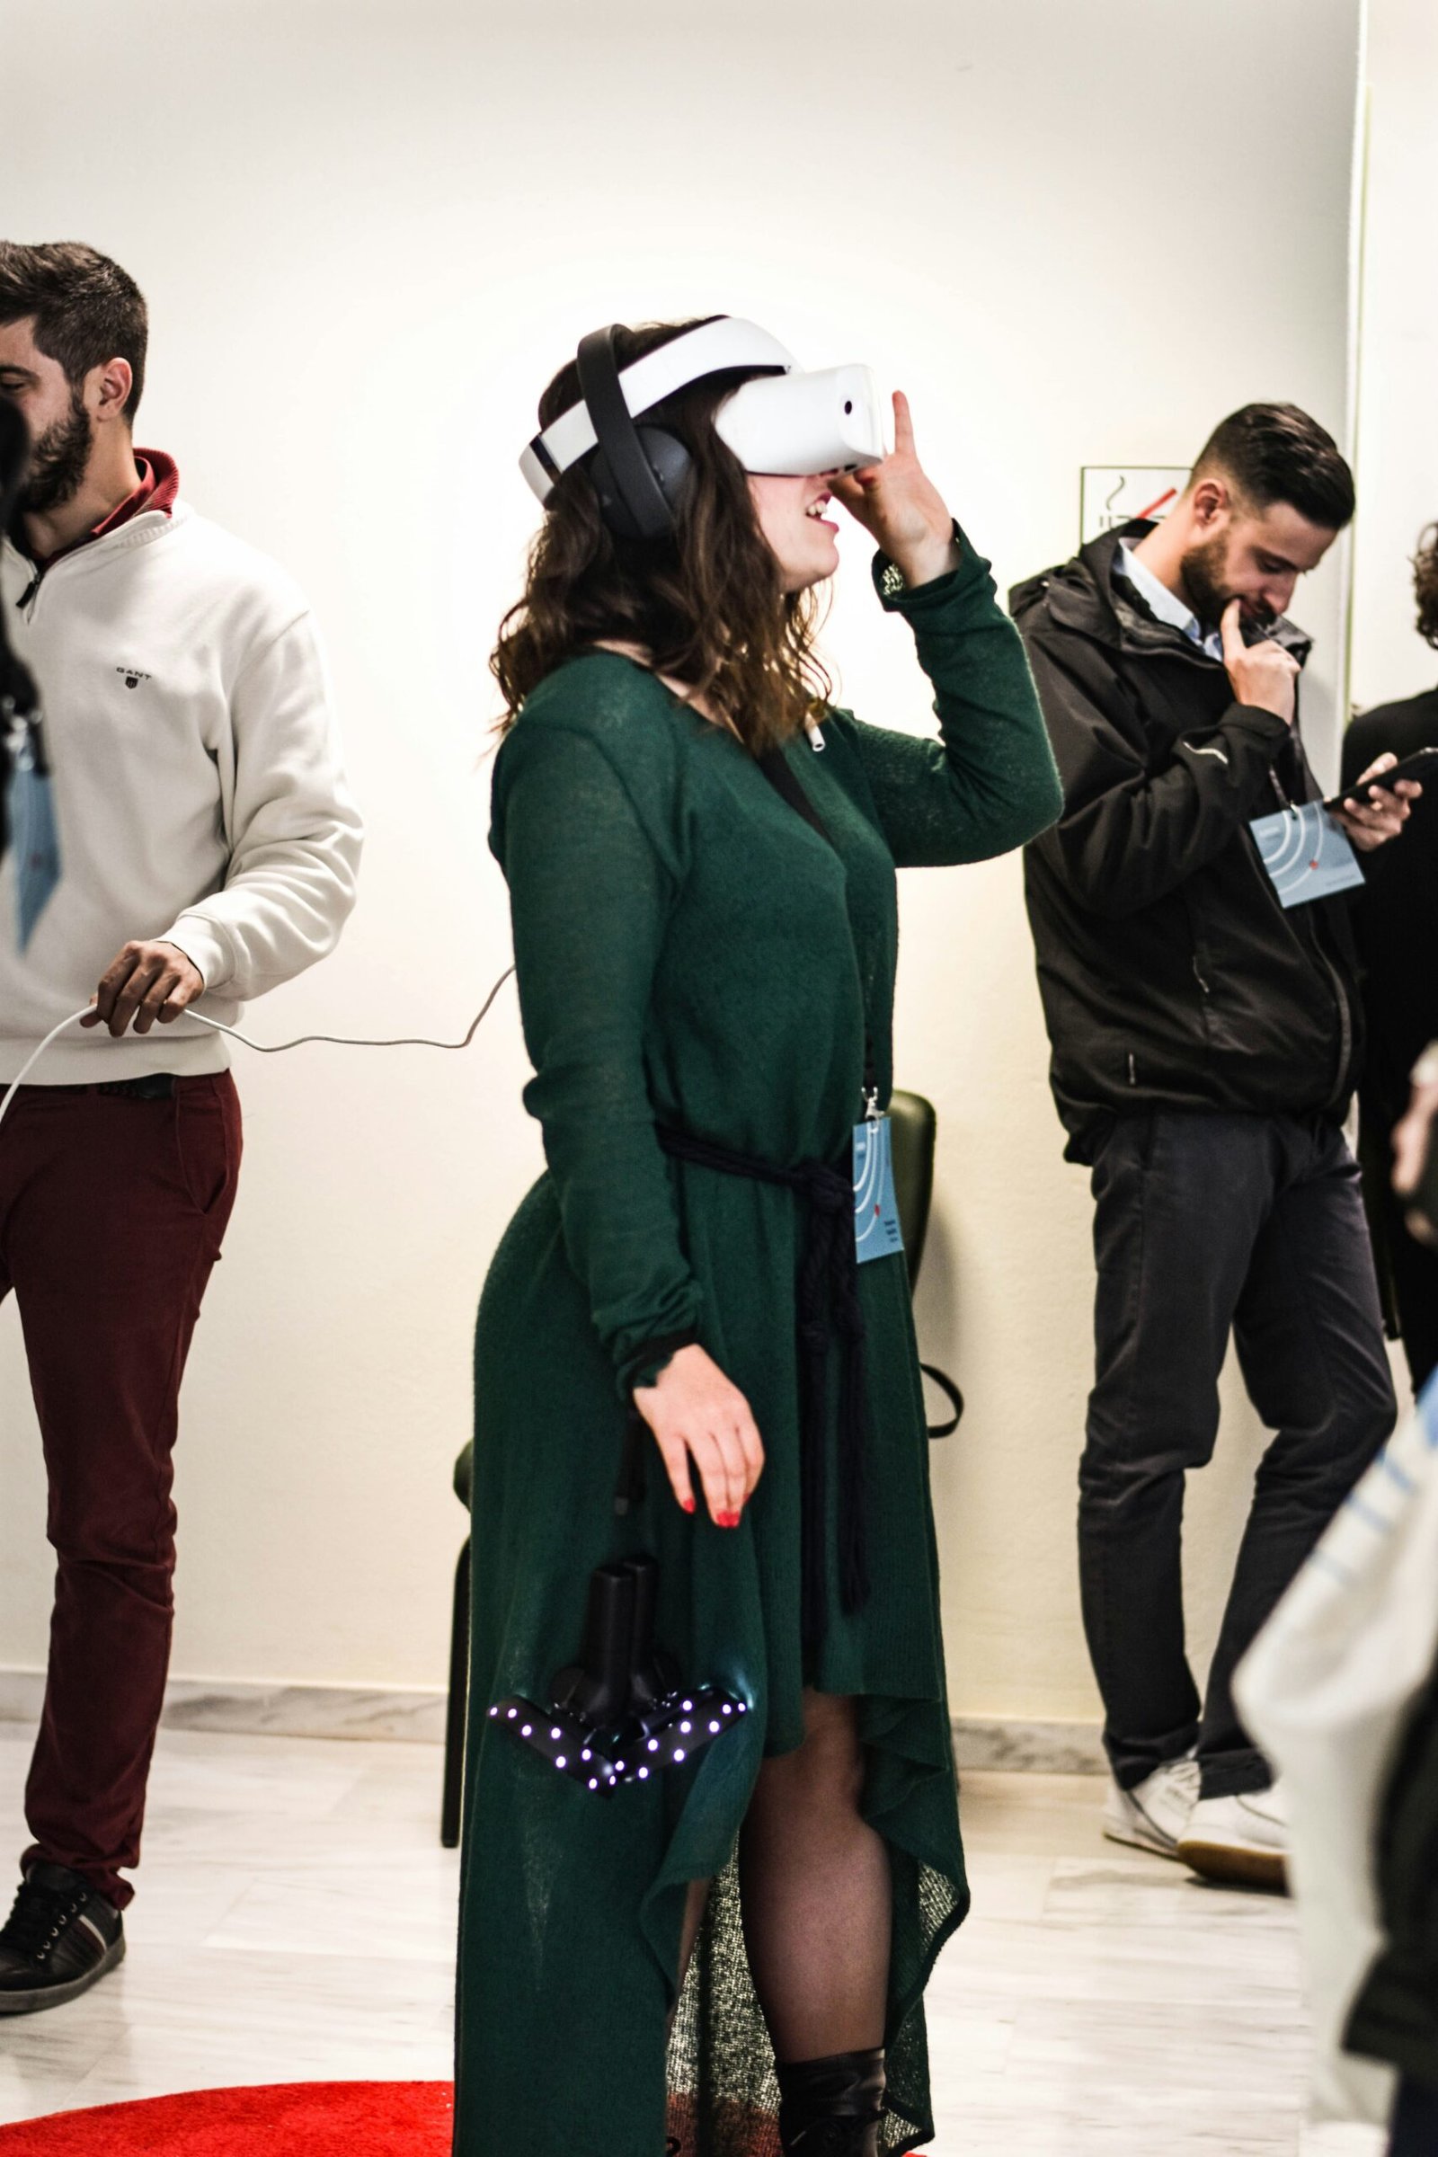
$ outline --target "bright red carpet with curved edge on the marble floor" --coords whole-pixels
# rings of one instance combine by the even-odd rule
[[[448,2082],[280,2082],[0,2127],[0,2157],[448,2157]]]

